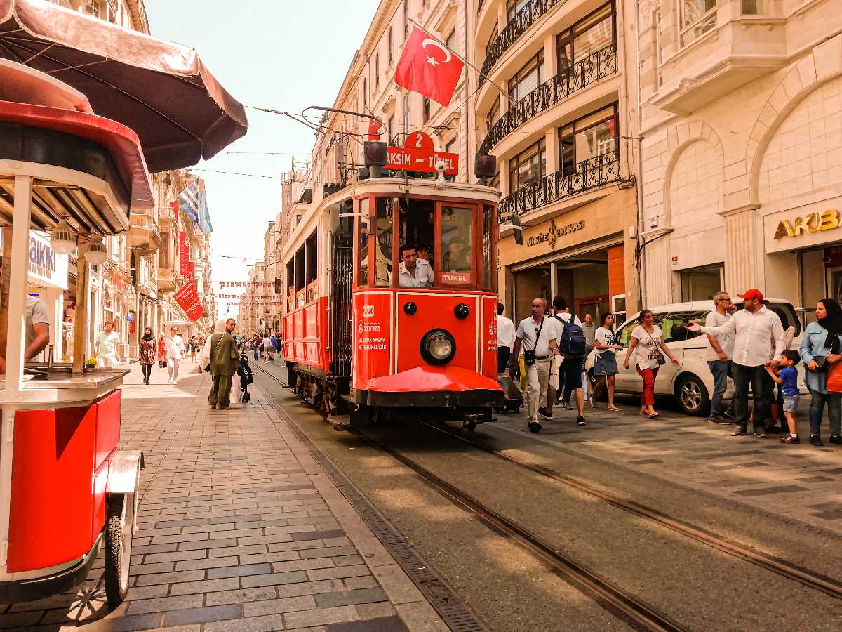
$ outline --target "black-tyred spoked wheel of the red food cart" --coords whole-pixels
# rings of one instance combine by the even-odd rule
[[[135,499],[132,494],[109,498],[105,519],[105,598],[108,603],[122,603],[129,589],[131,535],[135,528]]]

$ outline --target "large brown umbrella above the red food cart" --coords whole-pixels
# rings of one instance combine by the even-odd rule
[[[131,127],[152,172],[210,158],[248,129],[242,104],[192,48],[45,0],[0,0],[0,57],[60,79]]]

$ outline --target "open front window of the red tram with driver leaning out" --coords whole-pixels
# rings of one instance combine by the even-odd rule
[[[407,204],[406,198],[399,198],[400,222],[397,241],[401,251],[398,263],[398,286],[400,287],[429,287],[432,284],[432,268],[434,265],[435,240],[435,202],[432,200],[413,200]],[[408,275],[402,254],[415,249],[418,260],[417,272]],[[424,264],[418,261],[424,260]]]

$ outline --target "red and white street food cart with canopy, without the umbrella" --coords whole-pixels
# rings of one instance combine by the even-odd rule
[[[132,204],[152,204],[135,132],[85,111],[0,101],[3,602],[80,583],[99,549],[109,602],[125,597],[142,465],[139,451],[117,447],[118,387],[127,371],[84,366],[84,327],[74,331],[72,366],[24,363],[24,310],[30,229],[51,231],[56,249],[77,245],[76,309],[84,322],[88,265],[103,262],[102,237],[129,227]]]

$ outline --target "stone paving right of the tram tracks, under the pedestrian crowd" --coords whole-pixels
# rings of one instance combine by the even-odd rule
[[[626,467],[669,479],[690,488],[795,518],[842,534],[842,445],[828,442],[823,420],[823,447],[807,442],[809,397],[798,411],[802,443],[782,445],[780,435],[758,439],[731,437],[734,426],[711,424],[659,406],[656,420],[637,415],[635,400],[622,398],[622,411],[585,406],[588,426],[575,426],[576,413],[558,407],[553,420],[541,420],[537,437],[526,429],[525,415],[498,415],[493,427],[562,445]]]

